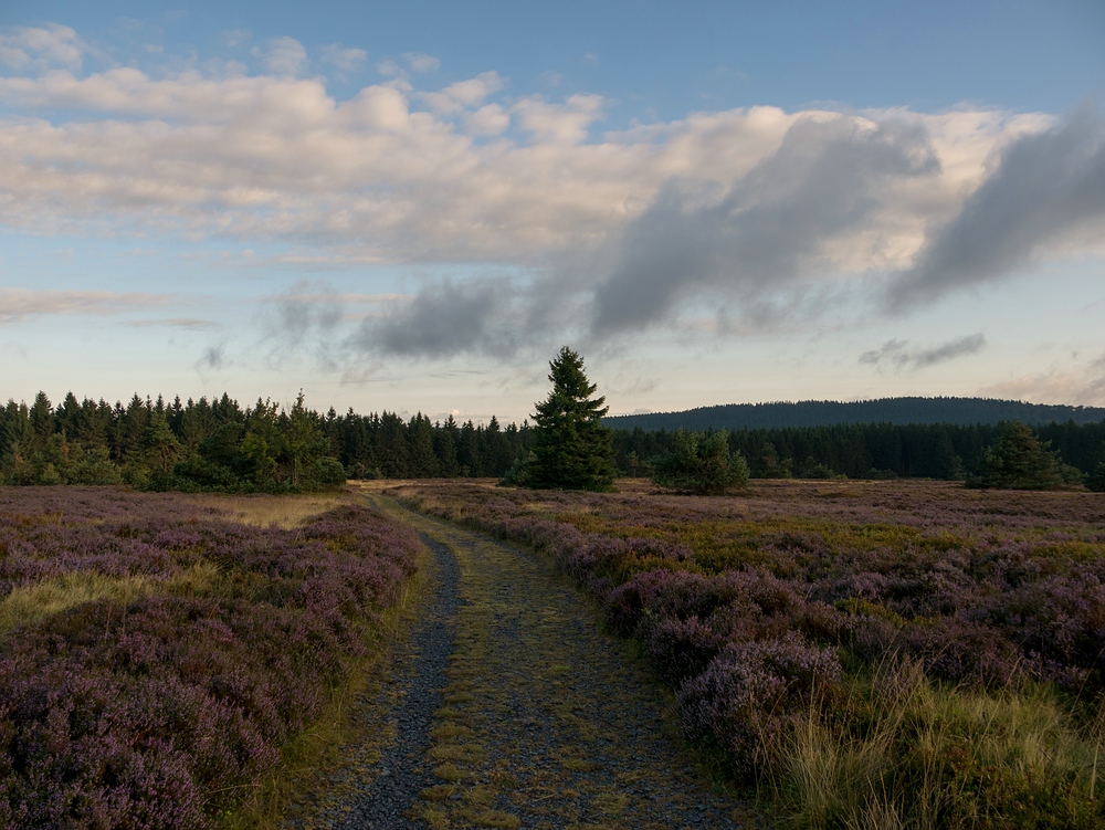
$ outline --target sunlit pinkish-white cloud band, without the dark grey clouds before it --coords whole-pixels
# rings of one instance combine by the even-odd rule
[[[487,74],[430,95],[446,108],[476,107],[501,83]],[[530,97],[509,112],[484,104],[454,124],[412,113],[410,96],[389,85],[336,101],[316,80],[152,78],[131,67],[0,78],[0,102],[22,113],[0,120],[3,225],[97,232],[137,221],[296,240],[319,246],[314,255],[323,259],[361,261],[524,264],[598,251],[620,239],[664,182],[728,186],[803,120],[853,124],[861,133],[908,124],[939,169],[883,181],[877,209],[862,224],[825,238],[828,260],[844,272],[907,266],[926,228],[953,216],[985,178],[991,154],[1045,125],[977,111],[753,107],[585,141],[601,115],[598,96]],[[34,117],[40,107],[74,115],[52,123]],[[501,134],[508,116],[528,130],[527,141],[473,144]]]

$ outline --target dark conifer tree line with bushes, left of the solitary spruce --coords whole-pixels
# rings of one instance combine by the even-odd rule
[[[278,493],[347,477],[498,477],[530,440],[525,422],[320,413],[302,393],[287,408],[261,399],[243,408],[225,393],[171,403],[135,395],[112,406],[72,392],[54,407],[39,392],[30,406],[9,400],[0,410],[0,483]]]

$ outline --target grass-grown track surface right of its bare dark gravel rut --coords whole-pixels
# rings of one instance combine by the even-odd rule
[[[438,784],[415,816],[434,830],[737,826],[740,805],[695,776],[659,692],[549,564],[404,514],[461,571]]]

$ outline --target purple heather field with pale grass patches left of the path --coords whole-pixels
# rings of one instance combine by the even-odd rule
[[[0,827],[227,821],[421,549],[338,498],[0,487]]]

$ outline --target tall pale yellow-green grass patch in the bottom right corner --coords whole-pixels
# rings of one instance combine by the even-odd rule
[[[1101,714],[1080,727],[1045,685],[987,692],[887,662],[819,708],[764,782],[796,830],[1105,827]]]

